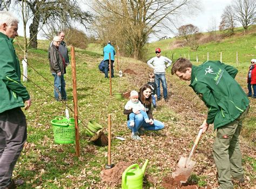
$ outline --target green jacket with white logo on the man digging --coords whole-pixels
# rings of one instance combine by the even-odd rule
[[[244,90],[234,80],[238,70],[220,61],[192,66],[190,87],[208,108],[208,124],[214,129],[231,123],[249,106]]]

